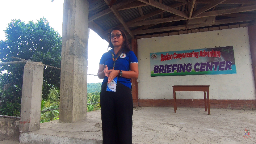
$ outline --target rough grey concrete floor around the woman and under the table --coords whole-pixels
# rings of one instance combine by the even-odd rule
[[[256,144],[256,111],[202,108],[136,107],[133,143],[138,144]],[[21,143],[101,144],[100,110],[76,123],[41,123],[40,130],[21,135]],[[244,137],[244,129],[250,135]]]

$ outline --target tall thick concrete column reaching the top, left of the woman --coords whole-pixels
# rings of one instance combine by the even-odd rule
[[[87,0],[64,0],[59,122],[86,118],[88,7]]]

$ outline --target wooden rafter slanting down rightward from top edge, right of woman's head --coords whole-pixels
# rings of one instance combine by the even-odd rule
[[[156,8],[159,8],[159,9],[162,9],[164,11],[167,11],[167,12],[170,12],[170,13],[173,13],[177,16],[180,16],[180,17],[184,17],[184,18],[188,18],[188,14],[186,14],[185,12],[181,12],[175,8],[172,8],[172,7],[169,7],[167,5],[164,5],[164,4],[161,4],[161,3],[158,3],[154,0],[138,0],[138,1],[141,1],[145,4],[148,4],[148,5],[151,5],[153,7],[156,7]]]

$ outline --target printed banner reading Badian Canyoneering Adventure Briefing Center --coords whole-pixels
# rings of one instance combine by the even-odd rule
[[[233,46],[150,53],[151,76],[236,73]]]

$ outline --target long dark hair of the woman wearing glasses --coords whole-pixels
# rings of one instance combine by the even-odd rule
[[[121,34],[122,34],[122,36],[123,36],[123,39],[125,40],[125,41],[123,41],[123,44],[122,44],[120,50],[118,51],[118,53],[120,53],[120,52],[126,53],[126,52],[130,51],[131,49],[130,49],[130,44],[129,44],[127,35],[125,34],[125,31],[124,31],[123,29],[119,28],[119,27],[114,27],[114,28],[109,32],[109,45],[108,45],[108,48],[109,48],[109,47],[112,48],[112,49],[114,48],[114,46],[113,46],[113,44],[112,44],[112,42],[111,42],[111,32],[112,32],[113,30],[119,30],[119,31],[121,31]]]

